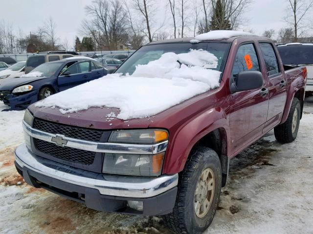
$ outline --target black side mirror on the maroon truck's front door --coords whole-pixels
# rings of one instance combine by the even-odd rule
[[[263,75],[258,71],[240,72],[237,78],[230,80],[230,91],[232,93],[261,88],[263,86]]]

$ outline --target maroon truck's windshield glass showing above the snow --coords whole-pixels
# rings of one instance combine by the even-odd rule
[[[168,43],[142,46],[129,59],[127,59],[115,73],[122,73],[132,75],[137,65],[147,64],[150,61],[159,59],[162,54],[167,52],[174,52],[176,54],[188,53],[193,50],[206,50],[214,54],[218,58],[217,66],[209,66],[212,70],[223,72],[225,61],[229,50],[229,43],[216,42],[201,42],[197,44],[192,43]]]

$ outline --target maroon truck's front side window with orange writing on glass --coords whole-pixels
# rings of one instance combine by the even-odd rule
[[[259,64],[259,59],[255,52],[254,45],[252,43],[241,45],[238,48],[231,74],[233,78],[237,78],[240,72],[260,71]]]

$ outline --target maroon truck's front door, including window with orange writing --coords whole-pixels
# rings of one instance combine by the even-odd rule
[[[240,72],[260,71],[260,59],[254,42],[241,44],[233,64],[231,79],[236,80]],[[268,114],[267,80],[263,76],[263,87],[229,95],[229,128],[231,152],[236,153],[262,134]],[[231,85],[231,84],[230,84]]]

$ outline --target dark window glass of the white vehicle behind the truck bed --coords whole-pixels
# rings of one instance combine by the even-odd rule
[[[283,64],[313,64],[313,45],[277,46]]]

